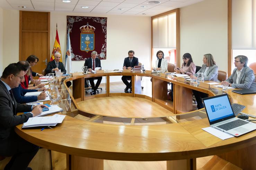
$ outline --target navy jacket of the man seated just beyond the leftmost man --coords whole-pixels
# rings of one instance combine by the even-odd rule
[[[19,84],[19,87],[11,89],[16,102],[18,103],[29,103],[37,101],[37,96],[24,96],[27,92],[34,92],[34,89],[23,89]]]

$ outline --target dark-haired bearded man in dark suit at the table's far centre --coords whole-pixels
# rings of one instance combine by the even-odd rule
[[[139,66],[139,60],[138,58],[134,57],[134,51],[130,50],[128,51],[129,57],[124,59],[124,66],[123,69],[132,69],[134,66]],[[132,92],[132,80],[131,76],[122,76],[122,81],[126,85],[126,88],[124,89],[125,93],[129,93],[128,89],[130,89],[130,93]],[[131,80],[130,83],[127,80]]]

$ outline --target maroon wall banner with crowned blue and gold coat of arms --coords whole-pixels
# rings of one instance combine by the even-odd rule
[[[106,59],[107,18],[67,16],[67,32],[69,29],[72,60],[86,60],[92,51]]]

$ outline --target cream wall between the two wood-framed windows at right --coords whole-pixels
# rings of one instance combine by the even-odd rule
[[[204,0],[180,9],[180,58],[190,53],[196,66],[211,53],[219,70],[228,72],[228,2]]]

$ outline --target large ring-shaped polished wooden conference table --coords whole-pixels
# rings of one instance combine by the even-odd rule
[[[111,76],[132,76],[132,93],[111,93]],[[85,97],[84,79],[106,77],[106,93]],[[152,95],[140,94],[141,76],[152,78]],[[196,169],[196,158],[218,155],[244,169],[256,169],[256,131],[241,137],[221,140],[201,128],[209,127],[205,110],[191,111],[192,89],[208,93],[209,96],[222,94],[222,90],[197,87],[197,84],[181,82],[171,76],[157,74],[107,72],[78,75],[63,78],[60,107],[67,114],[62,124],[53,129],[21,129],[15,131],[22,138],[43,148],[67,153],[67,169],[103,169],[103,160],[121,161],[167,161],[167,169]],[[72,94],[65,82],[72,81]],[[174,102],[167,100],[167,83],[174,84]],[[138,86],[138,87],[137,87]],[[137,90],[135,90],[137,89]],[[232,102],[246,106],[244,112],[256,115],[256,96],[227,92]],[[158,103],[174,114],[166,117],[167,124],[158,125],[117,125],[95,122],[97,115],[79,110],[77,102],[97,97],[130,96],[140,97]],[[97,103],[96,103],[97,107]],[[189,112],[191,111],[191,112]],[[74,118],[78,114],[88,120]],[[201,119],[183,121],[199,116]],[[132,123],[131,123],[132,124]],[[246,161],[242,161],[246,160]]]

